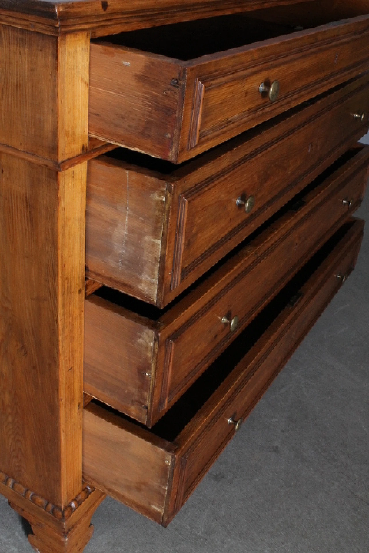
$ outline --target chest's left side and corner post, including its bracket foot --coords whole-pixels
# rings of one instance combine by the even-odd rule
[[[0,24],[0,493],[40,553],[82,551],[104,497],[82,482],[89,60],[89,33]]]

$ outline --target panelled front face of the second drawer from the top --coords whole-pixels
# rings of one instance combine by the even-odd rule
[[[355,119],[355,113],[364,113],[363,121]],[[319,113],[295,132],[287,136],[282,132],[277,142],[269,143],[267,149],[252,159],[230,168],[212,184],[204,182],[180,194],[172,288],[188,279],[191,273],[198,275],[199,265],[207,268],[207,259],[212,259],[214,252],[224,248],[226,242],[232,242],[236,234],[240,239],[245,238],[247,232],[251,233],[264,222],[271,205],[275,209],[280,207],[298,182],[330,152],[349,140],[361,125],[366,130],[368,114],[369,92],[365,80],[365,88],[354,96],[342,98],[339,105]],[[251,196],[253,207],[237,206],[237,199],[250,201]]]

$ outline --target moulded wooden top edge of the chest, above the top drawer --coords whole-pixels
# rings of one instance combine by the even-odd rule
[[[101,36],[299,2],[303,0],[2,0],[0,22],[51,35],[88,30]]]

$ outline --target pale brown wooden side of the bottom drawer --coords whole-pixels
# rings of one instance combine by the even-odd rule
[[[132,433],[124,431],[131,425]],[[174,447],[142,439],[132,423],[110,417],[97,405],[84,410],[84,474],[89,482],[161,523]]]

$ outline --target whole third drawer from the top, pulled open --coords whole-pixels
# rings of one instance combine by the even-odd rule
[[[152,426],[356,210],[368,160],[347,152],[165,310],[89,296],[84,392]]]

